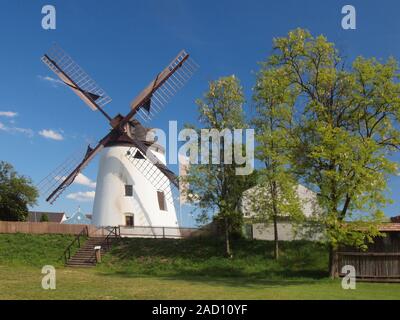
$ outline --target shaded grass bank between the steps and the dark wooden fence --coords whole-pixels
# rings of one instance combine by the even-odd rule
[[[282,242],[282,257],[272,258],[273,243],[236,240],[235,257],[224,258],[216,239],[122,239],[98,268],[107,277],[156,277],[233,287],[313,284],[326,278],[327,251],[308,241]]]

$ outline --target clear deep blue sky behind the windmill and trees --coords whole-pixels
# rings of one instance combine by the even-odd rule
[[[41,9],[46,4],[56,7],[56,30],[41,28]],[[346,4],[356,8],[356,30],[341,28],[341,8]],[[358,55],[399,60],[399,12],[399,1],[1,0],[0,112],[17,115],[0,113],[0,159],[39,182],[109,128],[100,113],[92,112],[70,90],[44,80],[53,75],[40,57],[53,42],[113,98],[106,107],[111,115],[126,113],[132,98],[185,48],[201,68],[151,123],[166,129],[168,120],[177,120],[180,127],[196,122],[194,100],[201,97],[208,81],[221,76],[240,78],[249,110],[257,63],[271,53],[274,37],[297,27],[326,35],[349,61]],[[43,130],[63,139],[46,138],[40,134],[46,134]],[[84,174],[95,180],[96,171],[94,161]],[[400,178],[392,177],[389,186],[394,204],[386,213],[395,215],[400,211]],[[53,206],[41,199],[36,209],[72,213],[80,205],[91,212],[90,201],[66,195],[92,190],[75,184]]]

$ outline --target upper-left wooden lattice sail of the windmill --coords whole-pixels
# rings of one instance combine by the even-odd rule
[[[102,111],[111,102],[110,96],[58,45],[42,61],[92,110]]]

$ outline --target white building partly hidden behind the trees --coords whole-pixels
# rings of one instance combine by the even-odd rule
[[[247,218],[247,220],[250,220],[252,217],[255,216],[251,195],[255,194],[256,190],[258,190],[259,188],[259,186],[255,186],[249,190],[246,190],[243,193],[241,210],[245,219]],[[268,196],[267,191],[265,191],[265,196]],[[279,240],[290,241],[300,239],[320,239],[321,232],[316,232],[315,228],[309,228],[307,226],[307,220],[310,220],[310,218],[312,218],[314,215],[318,215],[321,212],[321,209],[319,208],[317,202],[317,195],[315,194],[315,192],[299,184],[297,186],[297,196],[300,201],[302,212],[306,218],[306,223],[302,226],[297,226],[297,228],[295,228],[293,223],[288,218],[280,218],[278,220]],[[253,239],[274,240],[274,226],[272,222],[268,224],[248,223],[246,226],[246,233],[247,236]]]

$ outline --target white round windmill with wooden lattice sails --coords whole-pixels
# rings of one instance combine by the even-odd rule
[[[197,65],[185,51],[178,56],[132,101],[126,116],[111,118],[104,106],[111,98],[58,46],[45,54],[43,62],[91,109],[109,121],[111,131],[86,154],[68,174],[65,166],[49,175],[63,177],[47,197],[53,203],[76,176],[100,153],[93,224],[96,226],[136,225],[178,227],[172,188],[177,177],[166,167],[165,151],[155,143],[152,130],[134,119],[148,121],[190,79]]]

